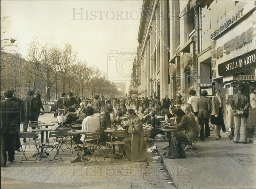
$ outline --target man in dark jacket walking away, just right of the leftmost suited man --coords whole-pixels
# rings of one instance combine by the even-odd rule
[[[34,97],[34,91],[29,90],[27,94],[28,95],[22,99],[22,104],[23,104],[22,116],[24,116],[23,131],[27,131],[29,121],[36,121],[37,109],[36,109],[36,99]],[[26,138],[23,138],[23,142],[24,143],[27,142]]]

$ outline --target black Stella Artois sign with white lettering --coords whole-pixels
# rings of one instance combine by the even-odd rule
[[[256,49],[219,64],[219,76],[242,71],[248,73],[253,67],[256,67]]]

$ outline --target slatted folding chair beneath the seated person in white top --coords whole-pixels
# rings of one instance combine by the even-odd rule
[[[83,164],[85,166],[86,163],[93,163],[93,162],[97,162],[98,164],[98,161],[96,159],[96,157],[94,156],[94,150],[91,149],[93,147],[96,147],[98,146],[98,142],[99,142],[99,138],[100,138],[100,132],[99,131],[93,131],[93,132],[87,132],[84,134],[84,140],[83,140],[83,144],[77,144],[77,149],[78,149],[78,152],[79,152],[79,155],[80,158],[82,159],[83,161],[83,158],[82,158],[82,151],[84,148],[87,148],[87,150],[85,151],[85,153],[89,150],[92,155],[90,157],[90,159],[92,158],[92,156],[94,157],[95,161],[90,161],[90,159],[88,159],[87,162],[84,162],[83,161]],[[94,143],[94,140],[97,140],[96,143]],[[82,147],[82,148],[81,148]],[[80,149],[79,149],[80,148]],[[75,163],[77,162],[78,158],[76,159]]]

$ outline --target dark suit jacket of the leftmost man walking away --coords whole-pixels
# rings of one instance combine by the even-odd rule
[[[1,133],[18,132],[20,123],[19,103],[10,98],[1,100]]]

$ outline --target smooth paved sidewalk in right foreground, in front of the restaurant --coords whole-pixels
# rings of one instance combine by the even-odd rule
[[[186,158],[167,159],[157,141],[158,152],[177,188],[256,188],[256,144],[234,144],[228,134],[215,140],[215,132],[196,144],[198,157],[189,152]]]

